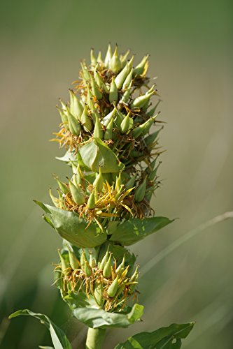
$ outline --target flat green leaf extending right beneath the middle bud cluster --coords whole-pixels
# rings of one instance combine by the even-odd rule
[[[157,232],[157,230],[164,228],[173,221],[166,217],[132,218],[115,227],[110,241],[129,246],[153,234],[153,232]]]

